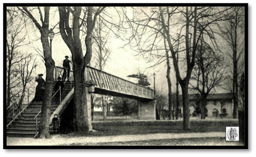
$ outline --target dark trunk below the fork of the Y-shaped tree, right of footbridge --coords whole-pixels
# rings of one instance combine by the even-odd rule
[[[183,129],[190,130],[188,83],[184,83],[181,87],[183,102]]]

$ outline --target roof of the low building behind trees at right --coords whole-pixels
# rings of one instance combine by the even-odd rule
[[[196,100],[198,94],[189,94],[189,100]],[[182,95],[179,95],[182,98]],[[232,93],[212,93],[207,96],[207,100],[222,100],[222,99],[232,99]]]

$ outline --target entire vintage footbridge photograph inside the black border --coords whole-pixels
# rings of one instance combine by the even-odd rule
[[[245,146],[245,7],[7,7],[7,146]]]

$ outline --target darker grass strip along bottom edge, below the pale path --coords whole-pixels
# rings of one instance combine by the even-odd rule
[[[127,142],[72,143],[61,146],[240,146],[239,142],[226,142],[225,137],[178,138]]]

